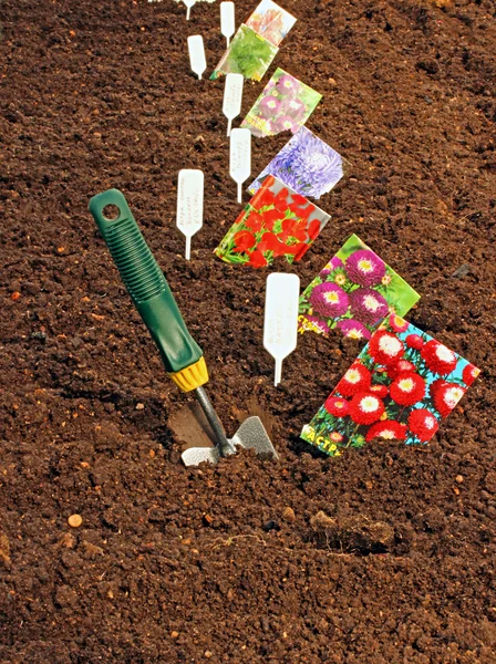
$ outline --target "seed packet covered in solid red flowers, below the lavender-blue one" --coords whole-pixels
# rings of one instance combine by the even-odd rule
[[[214,253],[230,263],[265,268],[278,257],[300,260],[330,216],[268,176]]]

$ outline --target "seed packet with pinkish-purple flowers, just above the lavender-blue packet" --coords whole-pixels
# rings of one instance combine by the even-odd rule
[[[241,127],[250,129],[254,136],[275,136],[286,131],[296,134],[321,98],[321,94],[277,69]]]

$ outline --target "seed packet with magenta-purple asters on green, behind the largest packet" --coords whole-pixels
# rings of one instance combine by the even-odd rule
[[[298,330],[369,340],[389,314],[403,317],[420,294],[353,235],[300,298]]]

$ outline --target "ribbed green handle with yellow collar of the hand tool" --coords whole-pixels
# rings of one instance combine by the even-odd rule
[[[115,218],[105,217],[106,206],[115,206],[115,215],[112,215]],[[118,189],[99,194],[90,200],[90,211],[136,309],[158,346],[165,370],[183,392],[204,385],[208,381],[208,373],[203,351],[189,334],[124,195]]]

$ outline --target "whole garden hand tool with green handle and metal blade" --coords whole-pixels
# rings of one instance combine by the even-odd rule
[[[113,214],[110,214],[110,210]],[[232,436],[224,427],[204,390],[207,365],[199,345],[189,334],[170,288],[152,255],[124,195],[108,189],[90,200],[90,211],[143,322],[158,347],[165,371],[182,392],[195,391],[215,435],[215,447],[193,447],[183,453],[186,466],[216,464],[241,446],[257,456],[277,459],[277,452],[259,417],[248,417]]]

